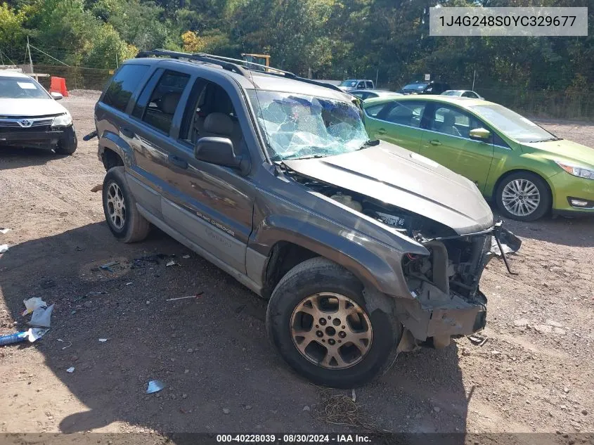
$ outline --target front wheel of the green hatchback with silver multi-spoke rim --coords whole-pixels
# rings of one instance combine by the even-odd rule
[[[536,221],[549,211],[550,191],[544,179],[530,172],[516,172],[499,183],[495,199],[504,217]]]

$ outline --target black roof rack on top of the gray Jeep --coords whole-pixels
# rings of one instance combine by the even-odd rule
[[[242,75],[250,79],[253,83],[252,75],[250,66],[256,65],[258,67],[262,67],[263,70],[258,70],[258,74],[263,75],[272,75],[277,77],[286,77],[287,79],[297,80],[299,82],[305,82],[306,84],[313,84],[317,86],[323,86],[324,88],[330,88],[335,91],[340,91],[344,93],[342,89],[338,88],[335,85],[327,84],[325,82],[318,82],[313,79],[306,79],[305,77],[299,77],[292,72],[279,70],[278,68],[267,67],[266,65],[262,65],[260,63],[254,62],[247,62],[246,60],[235,59],[231,57],[223,57],[223,56],[214,56],[213,54],[207,53],[181,53],[179,51],[168,51],[166,49],[153,49],[150,51],[141,51],[139,52],[136,57],[171,57],[171,58],[179,58],[179,59],[186,59],[186,60],[196,60],[198,62],[203,63],[213,63],[215,65],[220,65],[224,70],[228,70],[231,72],[235,72],[238,75]]]

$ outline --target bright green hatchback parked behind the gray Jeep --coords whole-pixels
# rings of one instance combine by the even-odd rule
[[[594,149],[558,138],[508,108],[471,98],[403,96],[368,99],[363,110],[371,139],[466,176],[505,217],[594,214]]]

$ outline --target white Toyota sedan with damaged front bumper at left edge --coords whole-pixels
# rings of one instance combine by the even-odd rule
[[[0,146],[75,153],[75,127],[68,110],[56,102],[61,98],[60,93],[49,94],[32,77],[0,71]]]

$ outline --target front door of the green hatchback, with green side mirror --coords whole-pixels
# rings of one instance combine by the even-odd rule
[[[481,140],[471,138],[470,130],[488,127],[464,110],[439,102],[427,105],[423,123],[420,154],[466,176],[484,192],[493,162],[493,134]]]

